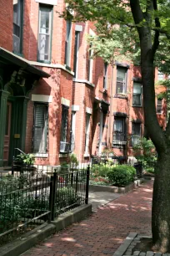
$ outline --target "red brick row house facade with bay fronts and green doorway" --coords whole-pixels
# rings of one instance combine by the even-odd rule
[[[86,35],[95,28],[60,18],[64,0],[0,7],[0,166],[12,164],[16,148],[52,166],[72,151],[82,162],[106,147],[125,160],[133,156],[144,131],[140,68],[91,59]],[[165,127],[165,100],[156,105]]]

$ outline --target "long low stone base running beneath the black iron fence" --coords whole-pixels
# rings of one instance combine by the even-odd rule
[[[54,233],[67,228],[72,223],[77,223],[92,213],[92,204],[85,204],[62,214],[52,223],[43,223],[32,231],[23,234],[20,238],[1,247],[0,256],[18,256],[29,248],[41,242]]]

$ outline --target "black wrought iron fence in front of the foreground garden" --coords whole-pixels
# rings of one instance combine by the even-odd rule
[[[0,179],[0,243],[88,201],[90,168]]]

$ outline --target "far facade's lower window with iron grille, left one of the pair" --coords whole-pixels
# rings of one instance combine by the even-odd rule
[[[125,118],[115,117],[114,118],[114,132],[113,132],[113,144],[119,144],[120,142],[126,141],[126,129],[125,129]]]

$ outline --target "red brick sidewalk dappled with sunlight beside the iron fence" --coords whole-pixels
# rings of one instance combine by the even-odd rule
[[[98,209],[90,218],[47,238],[24,256],[112,255],[129,232],[151,235],[153,182]]]

